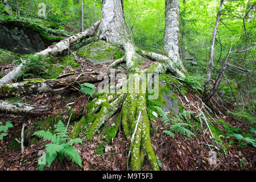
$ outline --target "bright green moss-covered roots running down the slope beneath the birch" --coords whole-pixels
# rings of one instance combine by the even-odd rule
[[[159,170],[150,140],[150,122],[146,111],[146,94],[115,93],[100,95],[96,100],[88,104],[86,117],[83,117],[73,127],[69,136],[72,138],[77,137],[86,123],[90,123],[86,138],[93,138],[100,127],[121,109],[119,117],[121,117],[121,125],[126,138],[131,140],[134,134],[134,139],[130,144],[129,169],[140,170],[146,156],[151,169]],[[140,115],[139,112],[141,112]],[[120,119],[119,117],[117,119]]]

